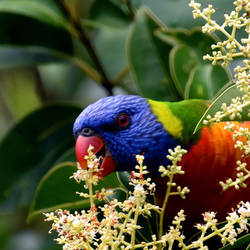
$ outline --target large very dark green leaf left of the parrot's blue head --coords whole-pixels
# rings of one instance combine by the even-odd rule
[[[0,200],[8,196],[11,187],[28,171],[40,167],[44,174],[55,159],[74,145],[72,125],[80,111],[69,105],[45,106],[8,132],[0,142],[1,166],[4,166]]]

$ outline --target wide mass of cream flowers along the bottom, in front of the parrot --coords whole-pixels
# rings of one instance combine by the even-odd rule
[[[87,156],[88,167],[86,170],[78,169],[73,177],[77,182],[88,182],[87,186],[90,193],[90,187],[97,184],[96,173],[99,171],[99,160],[89,149]],[[160,170],[164,176],[168,176],[166,197],[163,207],[160,208],[147,201],[147,196],[154,193],[155,185],[151,183],[150,178],[146,178],[147,167],[143,165],[144,157],[136,156],[138,165],[136,171],[131,175],[130,185],[133,191],[124,201],[114,199],[108,201],[109,191],[96,192],[95,194],[84,195],[93,204],[89,210],[70,213],[67,210],[57,210],[55,212],[45,213],[46,221],[52,221],[51,231],[56,231],[58,237],[55,239],[58,244],[63,245],[64,250],[77,249],[162,249],[168,247],[172,249],[175,242],[182,249],[208,249],[205,242],[215,235],[221,237],[223,244],[233,244],[236,237],[249,228],[247,219],[250,218],[250,203],[240,203],[237,211],[234,211],[226,218],[227,222],[223,227],[217,227],[217,219],[214,212],[203,214],[204,224],[196,225],[200,230],[198,240],[186,244],[184,242],[182,222],[185,221],[184,210],[180,210],[172,221],[172,225],[166,233],[163,233],[163,215],[166,208],[167,200],[170,195],[185,195],[189,190],[183,188],[182,192],[172,192],[173,177],[175,174],[184,174],[181,167],[177,165],[181,161],[182,155],[186,150],[177,146],[174,150],[169,151],[167,157],[172,161],[172,165],[167,168],[161,166]],[[172,181],[171,181],[172,179]],[[86,185],[85,185],[86,186]],[[178,188],[177,188],[178,189]],[[81,193],[80,193],[81,194]],[[100,194],[101,197],[100,197]],[[82,195],[83,196],[83,195]],[[95,199],[103,199],[105,203],[99,207],[94,204]],[[182,197],[185,198],[185,197]],[[158,235],[152,235],[152,241],[136,242],[136,233],[141,229],[138,223],[139,216],[151,216],[152,211],[159,214],[160,227]],[[236,226],[238,225],[238,226]],[[211,232],[210,232],[210,231]]]

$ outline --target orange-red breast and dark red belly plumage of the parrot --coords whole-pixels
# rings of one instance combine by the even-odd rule
[[[250,128],[250,122],[234,124],[236,129],[240,126]],[[241,200],[250,200],[250,179],[247,183],[249,185],[239,190],[229,188],[223,191],[219,184],[228,178],[236,178],[237,160],[246,162],[250,169],[250,157],[242,158],[242,152],[234,147],[232,132],[225,130],[225,125],[224,122],[220,122],[211,127],[203,127],[200,139],[183,156],[180,165],[185,174],[176,176],[174,181],[182,187],[187,186],[191,191],[185,200],[177,196],[169,199],[166,210],[168,222],[180,209],[185,210],[190,226],[200,222],[201,213],[206,211],[217,212],[217,217],[222,220]],[[163,187],[166,187],[167,179],[155,178],[154,181],[160,187],[156,191],[156,196],[161,204],[164,199]]]

